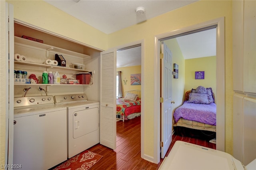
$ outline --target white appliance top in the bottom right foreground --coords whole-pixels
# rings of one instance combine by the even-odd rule
[[[160,170],[255,170],[256,160],[245,168],[226,152],[176,141]]]

